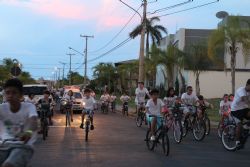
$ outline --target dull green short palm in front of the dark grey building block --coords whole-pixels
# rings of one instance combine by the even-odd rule
[[[186,48],[185,66],[195,75],[196,94],[200,95],[200,73],[213,65],[207,54],[207,44],[199,42]]]

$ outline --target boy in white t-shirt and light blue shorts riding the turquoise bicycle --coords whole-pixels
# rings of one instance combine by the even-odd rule
[[[152,89],[150,91],[150,100],[148,100],[146,104],[146,117],[147,121],[150,125],[151,129],[151,138],[150,140],[155,140],[155,131],[157,126],[161,125],[161,112],[162,107],[164,106],[164,103],[161,99],[159,99],[159,91],[157,89]],[[156,117],[149,117],[150,115],[156,116]]]

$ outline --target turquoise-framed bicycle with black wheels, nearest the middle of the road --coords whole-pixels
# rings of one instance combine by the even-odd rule
[[[152,141],[151,138],[151,129],[150,123],[149,128],[146,133],[146,145],[150,151],[154,151],[154,149],[161,144],[164,155],[169,155],[169,138],[168,138],[168,128],[166,126],[166,120],[162,116],[149,115],[149,117],[162,118],[161,125],[157,128],[155,132],[155,140]]]

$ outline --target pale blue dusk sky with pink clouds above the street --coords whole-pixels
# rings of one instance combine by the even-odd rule
[[[141,4],[141,0],[124,1],[135,9]],[[158,0],[148,4],[148,12],[185,1]],[[214,0],[194,0],[155,16],[209,2]],[[220,21],[215,17],[216,12],[223,10],[229,14],[247,16],[250,15],[249,6],[250,0],[220,0],[198,9],[161,17],[158,24],[165,26],[169,34],[179,28],[214,29]],[[142,13],[142,8],[139,12]],[[69,70],[69,56],[66,53],[74,53],[68,47],[81,52],[85,48],[85,40],[80,38],[80,34],[94,35],[88,43],[88,59],[91,60],[128,38],[129,32],[140,23],[138,15],[112,43],[103,48],[133,14],[134,11],[119,0],[0,0],[0,60],[5,57],[16,58],[23,64],[23,70],[29,71],[32,77],[45,79],[52,77],[55,67],[62,68],[61,61],[68,63],[66,74]],[[148,17],[152,16],[148,14]],[[99,62],[137,59],[138,55],[139,38],[136,38],[114,52],[89,62],[88,77],[92,76],[92,67]],[[72,70],[83,75],[83,61],[80,54],[72,56]]]

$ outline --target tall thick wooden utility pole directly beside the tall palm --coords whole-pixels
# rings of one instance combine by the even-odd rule
[[[143,17],[142,17],[142,30],[140,42],[140,56],[139,56],[139,81],[144,82],[144,43],[146,32],[146,19],[147,19],[147,0],[143,0]]]

